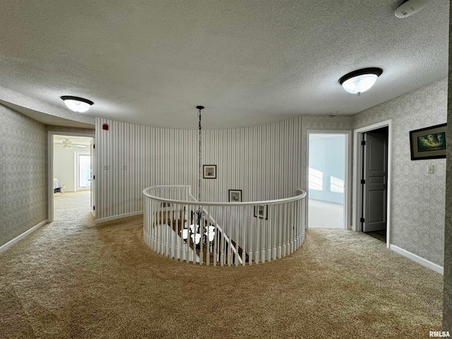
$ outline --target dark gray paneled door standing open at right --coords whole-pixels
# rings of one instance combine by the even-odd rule
[[[388,137],[364,133],[364,189],[362,231],[386,229]]]

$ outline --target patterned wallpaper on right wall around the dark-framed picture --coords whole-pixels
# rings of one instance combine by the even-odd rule
[[[354,128],[392,119],[391,244],[439,266],[444,263],[446,160],[410,159],[409,132],[444,124],[447,79],[355,115]],[[434,165],[435,173],[427,174]]]

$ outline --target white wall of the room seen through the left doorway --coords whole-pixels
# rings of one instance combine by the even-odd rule
[[[90,153],[89,147],[73,146],[66,150],[62,145],[54,144],[54,177],[59,179],[62,185],[66,186],[64,192],[76,191],[76,163],[75,153]]]

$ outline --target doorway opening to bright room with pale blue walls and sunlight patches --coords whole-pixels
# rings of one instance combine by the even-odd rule
[[[347,228],[350,132],[307,131],[307,226]]]

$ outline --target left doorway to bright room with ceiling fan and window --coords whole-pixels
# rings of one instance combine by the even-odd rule
[[[93,140],[90,133],[48,132],[49,221],[93,213]]]

